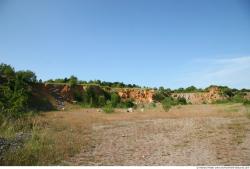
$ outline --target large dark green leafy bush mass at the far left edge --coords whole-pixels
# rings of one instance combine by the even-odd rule
[[[10,65],[0,64],[0,113],[6,118],[18,118],[27,114],[32,84],[36,75],[31,71],[15,72]]]

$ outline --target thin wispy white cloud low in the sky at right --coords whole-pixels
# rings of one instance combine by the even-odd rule
[[[199,60],[199,64],[200,70],[188,74],[185,80],[188,85],[193,83],[206,87],[216,84],[250,88],[250,56]]]

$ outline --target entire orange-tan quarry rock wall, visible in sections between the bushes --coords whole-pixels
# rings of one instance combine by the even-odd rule
[[[99,86],[88,86],[94,93],[104,94],[104,92],[117,92],[122,100],[131,99],[135,103],[151,103],[155,90],[141,88],[102,88]],[[53,106],[59,110],[64,110],[65,103],[74,103],[74,95],[84,93],[86,86],[76,85],[70,87],[62,84],[39,84],[35,87],[39,97],[46,97],[53,103]],[[184,97],[187,102],[192,104],[211,103],[215,100],[223,99],[220,95],[220,90],[217,87],[212,87],[208,92],[195,93],[172,93],[172,97]]]

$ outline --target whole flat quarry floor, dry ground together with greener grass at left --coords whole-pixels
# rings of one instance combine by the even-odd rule
[[[2,123],[0,134],[30,133],[1,165],[249,165],[250,107],[160,105],[128,113],[70,109]]]

